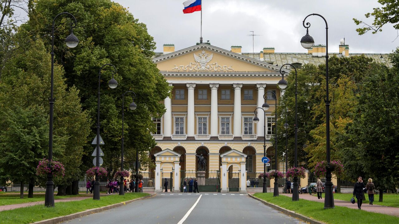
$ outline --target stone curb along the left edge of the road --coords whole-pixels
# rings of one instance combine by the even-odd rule
[[[74,218],[87,216],[89,214],[102,212],[102,211],[105,211],[105,210],[109,210],[111,208],[117,208],[117,207],[123,206],[125,204],[129,204],[131,202],[134,202],[136,200],[142,200],[142,199],[146,199],[146,198],[151,198],[151,197],[153,197],[155,195],[156,195],[156,193],[154,193],[152,195],[147,195],[147,196],[144,196],[144,197],[141,197],[141,198],[135,198],[135,199],[128,200],[128,201],[119,202],[117,204],[107,205],[107,206],[100,207],[100,208],[92,208],[92,209],[89,209],[89,210],[85,210],[83,212],[77,212],[77,213],[69,214],[69,215],[66,215],[66,216],[60,216],[60,217],[55,217],[55,218],[49,218],[49,219],[46,219],[46,220],[41,220],[41,221],[38,221],[38,222],[33,222],[32,224],[57,224],[59,222],[64,222],[64,221],[68,221],[68,220],[71,220],[71,219],[74,219]]]

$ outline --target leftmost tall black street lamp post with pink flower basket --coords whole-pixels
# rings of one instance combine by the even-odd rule
[[[69,12],[61,12],[55,18],[53,19],[53,24],[51,26],[51,87],[50,87],[50,98],[49,98],[49,104],[50,104],[50,124],[49,124],[49,164],[48,167],[51,170],[51,160],[53,160],[53,116],[54,116],[54,95],[53,95],[53,88],[54,88],[54,24],[55,24],[55,19],[57,19],[58,16],[67,14],[69,16],[72,16],[74,22],[69,24],[71,27],[71,34],[67,36],[65,39],[65,44],[67,47],[73,48],[76,47],[77,44],[79,43],[79,39],[75,35],[73,35],[73,28],[76,26],[77,21],[75,16],[70,14]],[[47,174],[47,182],[46,182],[46,193],[45,193],[45,198],[44,198],[44,205],[46,207],[54,207],[54,182],[53,182],[53,173],[48,173]]]

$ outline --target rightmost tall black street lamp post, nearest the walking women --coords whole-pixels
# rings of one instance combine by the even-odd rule
[[[308,29],[310,23],[306,23],[305,20],[309,16],[320,16],[326,23],[326,99],[324,100],[326,104],[326,159],[327,159],[327,172],[326,172],[326,195],[324,197],[324,208],[334,208],[334,196],[332,195],[332,182],[331,182],[331,172],[334,170],[330,166],[330,102],[328,97],[328,25],[327,20],[320,14],[310,14],[306,16],[302,22],[304,28],[306,28],[306,35],[302,37],[300,43],[302,47],[309,49],[314,45],[314,39],[309,35]]]

